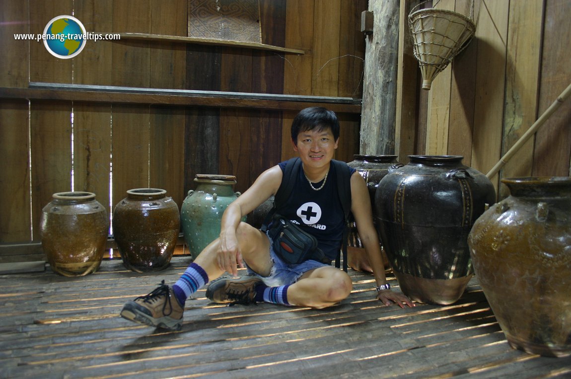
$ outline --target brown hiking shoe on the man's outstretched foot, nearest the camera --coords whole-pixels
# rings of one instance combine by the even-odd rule
[[[184,308],[176,300],[172,288],[164,284],[148,295],[127,301],[121,311],[121,317],[156,328],[179,330],[182,326]]]

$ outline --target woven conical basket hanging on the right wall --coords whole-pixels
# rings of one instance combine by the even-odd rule
[[[408,15],[413,49],[423,75],[423,90],[471,41],[474,22],[463,14],[444,9],[421,9]]]

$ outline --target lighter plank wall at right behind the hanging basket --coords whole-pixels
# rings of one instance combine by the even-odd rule
[[[403,0],[401,7],[417,3]],[[441,0],[436,7],[469,15],[470,5],[471,0]],[[408,17],[404,9],[401,23]],[[400,162],[408,162],[409,154],[463,155],[464,164],[486,174],[571,83],[565,63],[571,53],[564,46],[571,38],[569,11],[566,0],[475,0],[475,38],[430,91],[420,89],[420,70],[403,64],[399,86],[406,101],[397,104]],[[407,63],[412,46],[401,46],[401,62]],[[415,94],[411,82],[417,83]],[[415,114],[411,102],[416,102]],[[508,195],[500,178],[570,175],[570,125],[568,102],[492,178],[498,197]]]

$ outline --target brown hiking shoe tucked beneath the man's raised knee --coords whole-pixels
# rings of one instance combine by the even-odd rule
[[[208,285],[206,297],[214,303],[255,304],[256,286],[261,283],[256,276],[216,279]]]

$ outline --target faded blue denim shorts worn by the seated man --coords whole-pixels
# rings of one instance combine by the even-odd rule
[[[255,272],[254,270],[252,270],[246,264],[246,269],[248,271],[248,274],[258,276],[268,287],[278,287],[279,285],[293,284],[304,273],[312,269],[330,265],[315,260],[307,260],[305,262],[301,262],[300,264],[289,264],[280,259],[278,255],[276,255],[276,253],[274,252],[274,248],[272,247],[272,239],[270,238],[270,236],[268,236],[268,239],[270,239],[270,258],[272,260],[272,263],[274,263],[270,271],[270,275],[262,276],[259,273]]]

